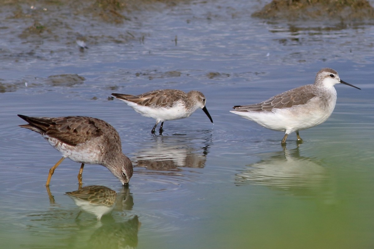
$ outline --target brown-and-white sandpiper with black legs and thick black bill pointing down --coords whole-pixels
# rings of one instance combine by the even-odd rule
[[[193,90],[184,93],[180,90],[163,89],[149,91],[140,95],[120,93],[112,93],[112,95],[117,99],[126,102],[126,104],[131,106],[141,115],[156,119],[156,124],[151,130],[152,134],[154,134],[154,130],[159,122],[161,122],[161,134],[164,121],[187,118],[191,116],[197,108],[202,108],[213,123],[213,120],[205,107],[205,96],[199,91]]]

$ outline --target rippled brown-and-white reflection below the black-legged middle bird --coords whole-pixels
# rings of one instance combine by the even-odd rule
[[[190,140],[183,138],[156,136],[151,147],[141,149],[132,159],[138,167],[154,171],[178,172],[180,168],[203,168],[210,141],[204,139],[202,144],[191,144],[188,143]]]

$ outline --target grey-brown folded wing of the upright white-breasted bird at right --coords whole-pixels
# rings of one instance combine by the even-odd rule
[[[284,93],[278,94],[264,102],[254,105],[234,106],[237,111],[272,111],[273,109],[290,108],[296,105],[304,105],[316,95],[312,91],[311,85],[304,85],[302,87],[294,88]]]

